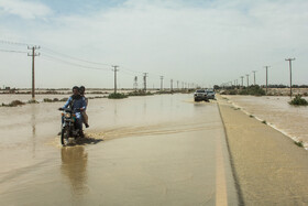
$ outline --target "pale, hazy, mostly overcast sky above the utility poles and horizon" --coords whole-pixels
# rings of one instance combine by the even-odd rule
[[[28,51],[3,41],[40,45],[38,87],[113,86],[110,66],[76,58],[120,65],[120,87],[142,79],[139,72],[148,73],[151,87],[161,75],[165,85],[173,78],[208,87],[252,79],[252,71],[264,84],[265,65],[270,83],[288,84],[284,59],[296,57],[294,84],[308,84],[307,22],[305,0],[0,0],[0,50]],[[30,87],[26,54],[1,52],[0,62],[0,85]]]

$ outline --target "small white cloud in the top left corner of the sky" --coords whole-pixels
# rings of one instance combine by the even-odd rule
[[[43,3],[22,0],[0,0],[0,11],[1,10],[3,13],[19,15],[26,20],[44,18],[53,13],[53,11]]]

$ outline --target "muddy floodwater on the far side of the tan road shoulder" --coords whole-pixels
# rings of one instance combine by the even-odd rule
[[[235,107],[265,120],[273,128],[308,148],[308,107],[292,106],[289,97],[226,96]],[[308,98],[306,98],[308,100]]]

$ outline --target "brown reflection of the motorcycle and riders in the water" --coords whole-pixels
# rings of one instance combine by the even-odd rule
[[[82,195],[87,191],[87,162],[88,154],[84,147],[66,147],[61,150],[61,172],[72,186],[72,194]]]

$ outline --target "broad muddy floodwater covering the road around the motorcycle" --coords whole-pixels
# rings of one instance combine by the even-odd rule
[[[0,205],[238,204],[216,102],[90,99],[91,139],[66,148],[62,105],[0,108]]]

